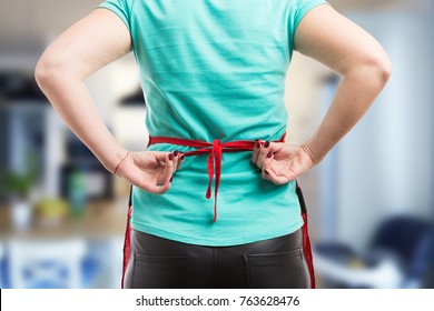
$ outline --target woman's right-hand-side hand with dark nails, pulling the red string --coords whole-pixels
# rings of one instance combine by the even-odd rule
[[[269,141],[256,143],[251,162],[263,170],[264,179],[275,184],[295,180],[316,164],[314,154],[306,144]]]

